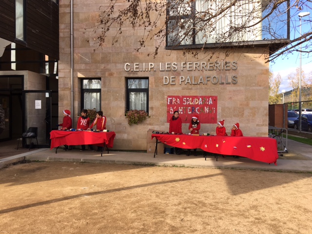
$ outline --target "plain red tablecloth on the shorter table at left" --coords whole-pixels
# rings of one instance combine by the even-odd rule
[[[87,132],[53,130],[50,133],[51,150],[61,145],[98,145],[105,143],[113,148],[115,132]]]

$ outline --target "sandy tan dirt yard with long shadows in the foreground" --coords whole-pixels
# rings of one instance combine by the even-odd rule
[[[31,162],[0,169],[0,233],[311,234],[312,174]]]

